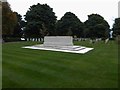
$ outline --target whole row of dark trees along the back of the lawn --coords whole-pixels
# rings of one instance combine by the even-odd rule
[[[25,20],[13,12],[8,2],[2,2],[2,37],[44,38],[44,36],[73,36],[78,38],[109,38],[113,30],[114,37],[120,35],[120,18],[116,18],[113,28],[99,14],[88,15],[88,20],[81,22],[72,12],[66,12],[60,20],[47,4],[30,6]]]

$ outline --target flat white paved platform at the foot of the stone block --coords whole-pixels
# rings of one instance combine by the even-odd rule
[[[61,51],[61,52],[69,52],[69,53],[81,53],[81,54],[85,54],[88,51],[93,50],[93,48],[88,48],[83,46],[44,46],[43,44],[34,45],[34,46],[25,46],[22,48]]]

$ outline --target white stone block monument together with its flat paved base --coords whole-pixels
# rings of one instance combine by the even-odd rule
[[[70,53],[84,54],[93,48],[73,45],[73,38],[71,36],[45,36],[43,44],[34,46],[25,46],[22,48],[51,50]]]

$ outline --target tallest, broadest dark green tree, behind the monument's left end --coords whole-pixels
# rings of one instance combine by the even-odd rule
[[[25,15],[27,37],[44,37],[54,35],[56,16],[47,4],[37,4],[29,8]]]

